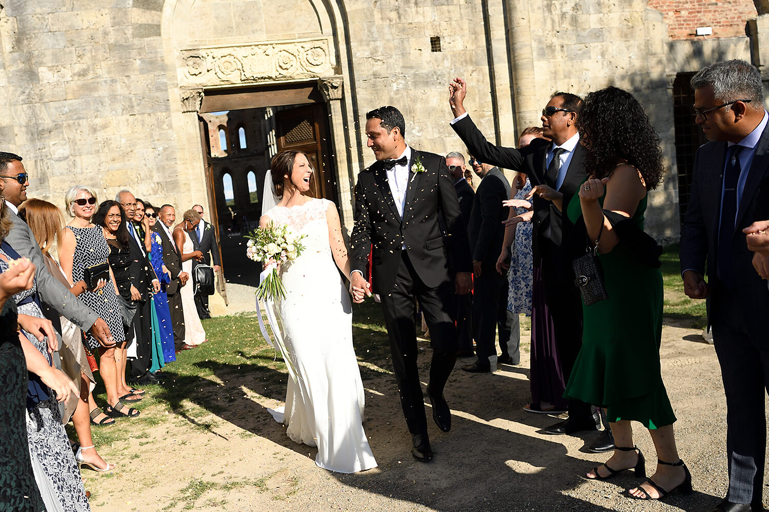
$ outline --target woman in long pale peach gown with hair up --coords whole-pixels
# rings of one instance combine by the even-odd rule
[[[195,230],[200,223],[200,214],[195,210],[187,210],[184,213],[181,223],[174,228],[174,243],[181,249],[181,268],[185,273],[192,273],[192,260],[203,259],[203,253],[195,250],[192,246],[190,232]],[[185,344],[191,346],[201,345],[208,341],[205,337],[205,330],[198,318],[197,309],[195,309],[195,292],[192,289],[193,282],[190,279],[181,287],[181,302],[184,305],[185,315]]]

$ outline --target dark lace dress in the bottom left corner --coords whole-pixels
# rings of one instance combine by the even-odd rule
[[[45,510],[32,473],[27,438],[27,364],[16,332],[16,306],[0,312],[0,504],[2,510]]]

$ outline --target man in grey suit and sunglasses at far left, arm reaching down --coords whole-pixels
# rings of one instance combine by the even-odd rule
[[[21,256],[35,264],[38,294],[44,306],[53,309],[70,322],[85,331],[91,331],[103,347],[112,347],[115,340],[109,332],[107,323],[80,302],[77,297],[62,285],[45,266],[43,254],[29,226],[18,217],[18,206],[27,199],[29,175],[22,164],[22,157],[12,153],[0,152],[0,179],[3,180],[2,196],[5,206],[11,213],[12,228],[5,241]]]

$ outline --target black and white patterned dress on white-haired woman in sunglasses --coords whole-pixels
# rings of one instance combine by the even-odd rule
[[[102,226],[67,227],[72,230],[72,233],[75,233],[75,240],[77,241],[75,254],[72,256],[72,282],[78,282],[83,279],[83,273],[87,267],[108,263],[109,246],[102,232]],[[122,309],[118,304],[118,295],[115,293],[115,286],[112,282],[108,282],[98,292],[86,290],[78,296],[78,299],[82,300],[85,306],[93,309],[99,318],[107,322],[109,332],[112,333],[115,342],[125,341]],[[89,332],[88,349],[95,352],[98,346],[98,340]]]

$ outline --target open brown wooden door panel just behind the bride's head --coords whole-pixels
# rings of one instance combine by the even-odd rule
[[[278,151],[297,150],[307,154],[315,169],[310,182],[314,197],[338,203],[336,170],[328,142],[328,114],[325,104],[310,104],[275,113],[275,135]]]

